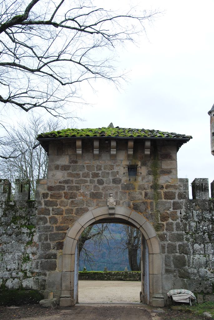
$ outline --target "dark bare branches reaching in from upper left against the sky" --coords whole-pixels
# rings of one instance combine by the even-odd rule
[[[136,8],[133,8],[136,12]],[[0,102],[68,117],[78,88],[97,78],[118,83],[114,50],[144,30],[156,12],[134,15],[95,7],[90,0],[0,1]],[[64,110],[64,111],[62,111]]]

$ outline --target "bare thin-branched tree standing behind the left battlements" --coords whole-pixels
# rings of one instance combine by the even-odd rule
[[[58,119],[46,122],[41,116],[31,116],[28,123],[20,122],[17,128],[8,129],[7,136],[2,138],[4,156],[0,160],[0,175],[11,181],[12,189],[16,178],[27,179],[31,183],[31,198],[34,198],[36,180],[46,178],[48,165],[48,156],[37,145],[36,136],[58,128]]]

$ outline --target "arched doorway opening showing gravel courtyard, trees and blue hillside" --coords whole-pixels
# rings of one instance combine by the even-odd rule
[[[92,224],[79,237],[78,253],[79,303],[140,302],[139,229],[118,223]]]

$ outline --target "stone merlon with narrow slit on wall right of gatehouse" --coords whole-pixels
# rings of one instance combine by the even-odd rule
[[[193,199],[210,199],[208,178],[195,178],[191,184]]]

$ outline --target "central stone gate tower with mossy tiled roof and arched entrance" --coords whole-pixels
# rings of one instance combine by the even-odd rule
[[[178,180],[177,151],[190,139],[112,124],[38,136],[49,156],[47,179],[39,182],[36,193],[45,297],[53,291],[61,306],[78,301],[77,242],[86,227],[98,222],[124,223],[141,231],[144,303],[162,307],[169,290],[186,285],[180,219],[188,181]]]

